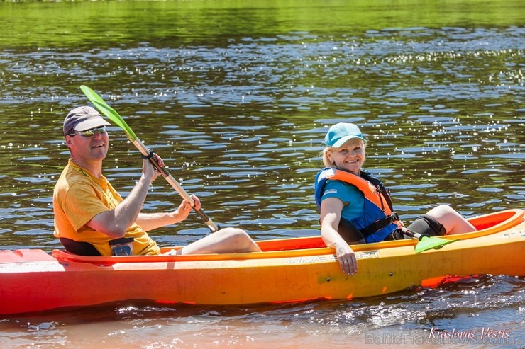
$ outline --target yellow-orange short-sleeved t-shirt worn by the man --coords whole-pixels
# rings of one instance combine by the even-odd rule
[[[113,210],[121,202],[121,195],[105,177],[96,178],[70,159],[53,192],[55,237],[89,242],[102,256],[111,256],[112,239],[86,224],[96,214]],[[138,224],[132,224],[124,237],[133,237],[133,254],[160,253],[157,243]]]

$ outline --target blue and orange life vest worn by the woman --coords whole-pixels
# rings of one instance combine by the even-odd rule
[[[321,198],[326,181],[343,181],[358,188],[365,197],[363,215],[350,220],[359,229],[366,242],[383,241],[389,234],[398,229],[399,217],[392,206],[392,199],[379,178],[372,173],[361,170],[361,176],[338,170],[324,168],[316,176],[315,198],[317,209],[321,210]],[[343,221],[344,222],[344,221]]]

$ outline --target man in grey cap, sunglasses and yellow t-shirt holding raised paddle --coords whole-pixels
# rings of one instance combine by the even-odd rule
[[[159,254],[160,248],[146,231],[182,222],[192,207],[183,200],[175,212],[140,212],[150,183],[159,174],[147,160],[143,160],[142,176],[123,199],[102,174],[102,161],[109,149],[107,125],[109,122],[88,106],[74,108],[65,117],[64,138],[71,158],[53,193],[54,234],[67,251],[87,256]],[[164,166],[164,161],[154,156]],[[192,198],[199,209],[199,199]],[[184,246],[177,254],[255,251],[260,248],[245,231],[226,228]]]

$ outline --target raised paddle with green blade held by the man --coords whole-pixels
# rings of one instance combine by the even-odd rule
[[[179,185],[179,183],[177,183],[175,178],[173,178],[173,176],[167,171],[167,169],[165,167],[160,167],[159,166],[159,164],[157,163],[157,160],[155,159],[155,157],[153,157],[153,151],[148,149],[144,145],[144,143],[140,139],[138,139],[138,137],[135,135],[135,132],[133,132],[133,130],[131,130],[131,127],[129,127],[129,125],[126,123],[126,121],[123,120],[121,115],[118,115],[118,113],[114,110],[114,108],[111,108],[104,101],[104,99],[101,98],[101,96],[96,94],[96,92],[93,91],[88,86],[82,85],[82,86],[80,86],[80,89],[82,90],[84,95],[87,97],[87,99],[89,99],[89,101],[91,103],[93,103],[93,105],[102,114],[106,115],[106,117],[108,117],[111,121],[116,123],[116,125],[121,127],[121,129],[124,132],[126,132],[126,137],[128,137],[130,142],[133,143],[135,145],[135,147],[137,147],[137,149],[142,154],[143,159],[146,159],[146,160],[150,161],[150,163],[153,164],[153,166],[155,166],[155,168],[157,168],[158,171],[160,171],[160,173],[162,174],[162,177],[164,177],[166,179],[167,183],[170,183],[170,185],[172,185],[172,187],[175,190],[177,190],[177,193],[179,193],[179,195],[184,200],[186,200],[187,202],[189,202],[190,205],[192,205],[192,207],[195,210],[195,212],[197,212],[197,214],[199,214],[199,216],[204,221],[204,223],[209,227],[211,232],[218,231],[219,227],[217,227],[217,225],[211,220],[211,218],[209,218],[206,215],[206,213],[204,213],[204,211],[202,209],[199,208],[199,210],[197,210],[195,208],[195,202],[192,199],[192,197],[188,195],[186,190],[184,190],[184,188],[182,188],[182,186]]]

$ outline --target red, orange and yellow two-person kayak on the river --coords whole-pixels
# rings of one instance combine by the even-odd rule
[[[416,239],[354,245],[358,273],[352,276],[341,272],[321,236],[258,241],[262,252],[256,253],[192,256],[0,251],[0,314],[123,301],[235,305],[355,299],[433,287],[451,275],[525,275],[524,210],[469,221],[477,231],[440,236],[460,240],[423,253],[414,252]]]

